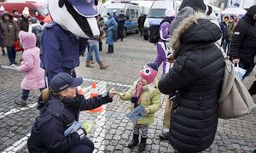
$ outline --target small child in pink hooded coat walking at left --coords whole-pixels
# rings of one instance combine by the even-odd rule
[[[24,72],[25,77],[21,82],[22,96],[20,100],[15,100],[15,104],[26,106],[30,90],[44,89],[44,70],[40,67],[40,49],[36,47],[37,37],[33,33],[20,31],[20,42],[24,48],[22,62],[17,71]]]

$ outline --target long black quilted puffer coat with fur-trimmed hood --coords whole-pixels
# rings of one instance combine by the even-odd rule
[[[179,91],[170,127],[170,143],[179,152],[206,150],[215,137],[224,77],[223,55],[214,44],[220,37],[219,27],[200,13],[184,19],[173,33],[176,62],[159,89],[163,94]]]

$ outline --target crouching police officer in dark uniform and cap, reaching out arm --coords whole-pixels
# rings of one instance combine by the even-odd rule
[[[81,77],[73,78],[67,73],[58,73],[52,78],[49,89],[45,89],[38,101],[40,115],[32,126],[27,140],[29,152],[90,153],[94,144],[86,138],[86,130],[79,127],[73,133],[64,135],[68,127],[79,121],[79,112],[92,110],[113,100],[116,94],[112,88],[106,96],[98,95],[84,99],[76,94]]]

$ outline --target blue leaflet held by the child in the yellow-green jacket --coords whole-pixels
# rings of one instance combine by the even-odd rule
[[[138,105],[134,110],[130,111],[126,116],[132,121],[137,122],[141,117],[146,114],[145,107]]]

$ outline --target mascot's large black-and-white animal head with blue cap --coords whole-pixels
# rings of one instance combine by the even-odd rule
[[[84,38],[99,36],[95,0],[49,0],[48,7],[52,20],[63,29]]]

